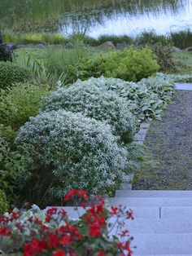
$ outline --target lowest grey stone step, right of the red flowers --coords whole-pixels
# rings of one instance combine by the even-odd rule
[[[165,227],[166,228],[166,227]],[[157,231],[158,232],[158,231]],[[132,247],[133,255],[169,255],[189,254],[192,255],[192,234],[131,234],[134,239]]]

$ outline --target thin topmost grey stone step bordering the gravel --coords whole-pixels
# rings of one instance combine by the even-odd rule
[[[116,197],[191,197],[191,190],[117,190]]]

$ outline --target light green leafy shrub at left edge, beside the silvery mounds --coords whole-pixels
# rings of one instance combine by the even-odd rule
[[[30,82],[19,83],[0,95],[0,123],[17,130],[28,118],[35,116],[41,107],[41,99],[50,93],[49,86]]]

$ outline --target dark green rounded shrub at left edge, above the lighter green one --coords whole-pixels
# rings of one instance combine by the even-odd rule
[[[15,82],[24,82],[29,77],[28,69],[11,62],[0,61],[0,89],[12,86]]]

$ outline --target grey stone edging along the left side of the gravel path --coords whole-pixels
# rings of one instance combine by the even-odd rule
[[[133,137],[133,143],[143,144],[149,127],[150,123],[142,122],[139,131]],[[120,183],[121,190],[132,190],[133,175],[128,174],[124,177],[124,182]]]

